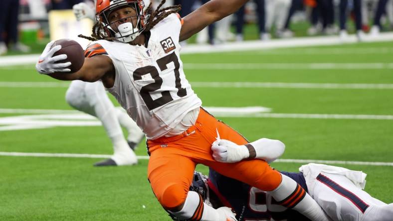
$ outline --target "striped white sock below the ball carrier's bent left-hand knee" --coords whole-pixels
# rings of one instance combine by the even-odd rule
[[[171,212],[179,219],[200,221],[226,221],[222,211],[218,211],[203,203],[201,196],[194,191],[189,191],[181,211]]]

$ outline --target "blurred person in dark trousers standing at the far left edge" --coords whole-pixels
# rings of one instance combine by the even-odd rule
[[[10,46],[13,51],[29,52],[30,48],[18,41],[19,0],[1,0],[0,55]]]

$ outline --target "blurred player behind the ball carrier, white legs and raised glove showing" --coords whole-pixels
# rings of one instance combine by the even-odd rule
[[[81,2],[73,6],[77,20],[90,18],[95,21],[94,4]],[[113,155],[94,164],[94,166],[123,166],[138,162],[134,153],[137,144],[143,139],[144,133],[137,124],[120,109],[116,109],[109,100],[101,81],[88,83],[72,81],[65,95],[66,102],[76,110],[97,117],[112,141]],[[128,131],[127,140],[121,126]]]

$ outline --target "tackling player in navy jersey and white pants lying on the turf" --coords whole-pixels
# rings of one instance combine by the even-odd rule
[[[266,138],[246,145],[237,145],[229,140],[220,139],[213,143],[212,150],[213,157],[222,162],[237,162],[249,158],[272,162],[284,153],[281,142]],[[281,173],[303,187],[332,220],[392,220],[393,204],[388,205],[363,190],[367,174],[314,163],[303,165],[299,170],[299,173]],[[268,192],[225,177],[214,170],[209,171],[208,179],[195,172],[191,189],[204,196],[214,208],[221,205],[233,208],[238,221],[270,218],[275,221],[306,219],[295,211],[280,206]]]

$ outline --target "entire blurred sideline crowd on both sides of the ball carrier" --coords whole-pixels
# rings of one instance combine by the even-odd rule
[[[45,14],[51,9],[71,9],[74,4],[83,1],[91,3],[93,0],[1,0],[0,55],[7,50],[29,51],[18,39],[18,23],[29,21],[21,19],[21,12]],[[161,2],[152,1],[153,5]],[[182,4],[180,14],[186,16],[207,1],[167,0],[166,5]],[[145,2],[149,4],[150,0]],[[45,13],[35,9],[37,4],[44,5]],[[348,28],[348,20],[353,20],[354,28]],[[308,28],[308,35],[339,35],[345,39],[350,29],[361,41],[366,33],[377,36],[381,30],[393,29],[393,0],[250,0],[233,15],[201,31],[196,41],[209,44],[242,41],[244,24],[247,23],[256,24],[260,40],[302,36],[304,31],[294,25],[299,21],[309,24],[301,26]],[[231,31],[231,25],[234,31]]]

